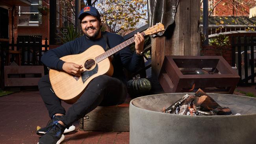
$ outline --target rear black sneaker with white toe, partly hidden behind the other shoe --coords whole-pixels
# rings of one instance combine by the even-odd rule
[[[37,135],[45,135],[45,133],[47,131],[49,131],[52,127],[52,125],[54,125],[54,123],[58,122],[59,121],[59,118],[61,116],[53,116],[52,120],[49,120],[48,124],[46,125],[46,127],[43,127],[41,129],[38,129],[37,130]],[[72,126],[69,126],[65,129],[64,133],[69,133],[70,131],[74,131],[76,129],[76,127],[74,125]]]

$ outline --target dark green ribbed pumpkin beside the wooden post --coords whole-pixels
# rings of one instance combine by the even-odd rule
[[[127,82],[127,88],[131,97],[142,96],[151,90],[151,83],[146,78],[131,79]]]

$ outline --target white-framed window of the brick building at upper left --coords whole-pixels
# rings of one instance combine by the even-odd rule
[[[31,6],[19,6],[19,17],[29,19],[28,24],[19,24],[18,26],[39,26],[41,24],[41,15],[38,12],[38,6],[42,3],[41,0],[30,0]]]

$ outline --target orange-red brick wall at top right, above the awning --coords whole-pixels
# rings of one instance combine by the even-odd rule
[[[214,5],[220,0],[214,0]],[[236,4],[234,0],[221,1],[213,11],[213,16],[249,16],[250,8],[255,6],[253,0],[243,0]]]

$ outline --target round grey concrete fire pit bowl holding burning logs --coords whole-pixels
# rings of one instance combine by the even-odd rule
[[[256,144],[256,98],[209,94],[231,116],[161,113],[187,93],[143,96],[130,102],[130,144]],[[188,93],[193,94],[193,93]]]

